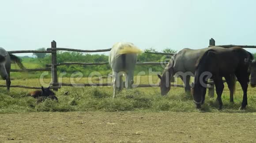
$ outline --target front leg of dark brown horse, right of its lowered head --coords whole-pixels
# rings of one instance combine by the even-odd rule
[[[216,77],[213,80],[214,80],[214,83],[215,83],[215,86],[216,86],[217,100],[218,100],[218,103],[219,103],[218,110],[221,110],[222,105],[223,105],[222,100],[221,100],[221,95],[222,95],[222,92],[223,92],[223,89],[224,89],[224,84],[223,84],[223,81],[222,81],[222,77]]]

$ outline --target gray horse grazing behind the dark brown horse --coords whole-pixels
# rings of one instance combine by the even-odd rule
[[[190,77],[194,77],[196,70],[196,62],[198,61],[200,56],[202,56],[209,49],[223,49],[223,47],[212,46],[198,50],[185,48],[179,51],[177,54],[175,54],[170,63],[166,66],[165,70],[163,71],[163,75],[158,75],[158,77],[161,79],[159,83],[161,88],[161,94],[166,95],[169,92],[171,88],[170,79],[175,74],[177,74],[184,82],[185,92],[191,93],[189,82]],[[230,89],[230,102],[233,102],[233,93],[236,86],[236,77],[235,75],[230,75],[226,76],[225,79]]]

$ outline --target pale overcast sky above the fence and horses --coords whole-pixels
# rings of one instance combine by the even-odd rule
[[[1,0],[0,46],[95,50],[256,45],[255,0]],[[249,50],[256,52],[256,50]],[[28,54],[18,54],[28,55]]]

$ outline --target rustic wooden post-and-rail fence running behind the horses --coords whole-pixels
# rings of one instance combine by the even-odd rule
[[[215,46],[215,40],[210,39],[209,46]],[[222,47],[229,48],[236,45],[221,45]],[[247,46],[247,45],[241,45],[243,48],[256,48],[256,46]],[[52,63],[46,64],[45,68],[36,68],[36,69],[27,69],[26,72],[38,72],[38,71],[51,71],[52,75],[52,83],[50,85],[51,88],[55,91],[57,91],[61,86],[111,86],[110,83],[94,83],[94,84],[70,84],[70,83],[59,83],[58,82],[58,75],[57,75],[57,66],[62,65],[103,65],[108,64],[108,62],[102,62],[102,63],[80,63],[80,62],[66,62],[66,63],[57,63],[57,51],[58,50],[64,50],[64,51],[74,51],[74,52],[84,52],[84,53],[94,53],[94,52],[107,52],[110,51],[109,49],[103,49],[103,50],[79,50],[79,49],[70,49],[70,48],[57,48],[56,42],[53,40],[51,42],[51,48],[47,48],[46,51],[40,51],[40,50],[16,50],[16,51],[8,51],[10,54],[18,54],[18,53],[49,53],[52,55]],[[145,52],[147,54],[163,54],[163,55],[173,55],[173,53],[161,53],[161,52]],[[137,65],[161,65],[161,64],[167,64],[167,62],[138,62]],[[17,70],[13,69],[11,72],[25,72],[23,70]],[[225,81],[223,81],[225,82]],[[133,87],[158,87],[159,85],[147,85],[147,84],[140,84],[140,85],[133,85]],[[178,85],[178,84],[171,84],[171,86],[175,87],[184,87],[184,85]],[[0,87],[6,87],[5,85],[0,85]],[[40,87],[29,87],[29,86],[19,86],[19,85],[12,85],[11,87],[19,87],[19,88],[27,88],[27,89],[41,89]],[[214,82],[209,81],[208,86],[209,88],[209,96],[214,96]]]

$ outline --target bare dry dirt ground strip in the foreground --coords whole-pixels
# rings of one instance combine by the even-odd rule
[[[0,142],[255,143],[256,113],[0,114]]]

